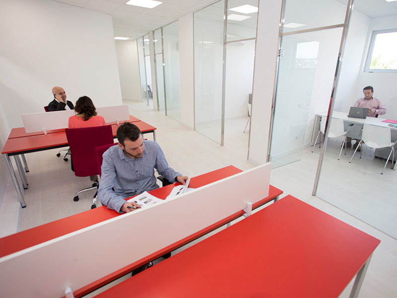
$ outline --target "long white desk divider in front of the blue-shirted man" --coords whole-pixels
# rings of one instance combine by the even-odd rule
[[[60,298],[269,194],[270,163],[0,258],[0,297]]]

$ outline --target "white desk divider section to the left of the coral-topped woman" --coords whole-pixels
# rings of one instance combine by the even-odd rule
[[[74,110],[43,113],[22,114],[22,122],[27,133],[35,133],[53,129],[67,128],[69,117],[75,115]]]

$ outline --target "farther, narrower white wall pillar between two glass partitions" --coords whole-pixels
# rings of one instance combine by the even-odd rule
[[[179,64],[181,81],[181,123],[195,128],[195,81],[194,81],[194,32],[193,13],[178,20],[179,22]]]

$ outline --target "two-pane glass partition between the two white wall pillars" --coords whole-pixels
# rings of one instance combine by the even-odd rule
[[[248,148],[257,16],[258,0],[221,0],[194,13],[195,129],[220,145],[225,120],[243,119],[230,131],[241,126]]]

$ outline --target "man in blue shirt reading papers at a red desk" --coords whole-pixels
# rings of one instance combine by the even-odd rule
[[[169,181],[186,184],[188,177],[170,168],[160,146],[143,140],[134,124],[123,123],[116,136],[119,146],[112,146],[103,153],[98,190],[100,201],[109,209],[123,213],[139,207],[125,199],[158,188],[154,169]]]

